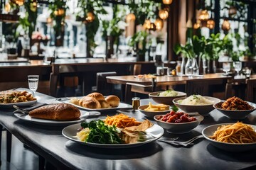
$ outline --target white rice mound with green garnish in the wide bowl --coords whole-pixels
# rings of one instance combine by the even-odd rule
[[[185,98],[184,100],[178,101],[178,103],[184,104],[184,105],[210,105],[210,104],[213,104],[214,101],[210,101],[201,95],[193,94],[188,98]]]

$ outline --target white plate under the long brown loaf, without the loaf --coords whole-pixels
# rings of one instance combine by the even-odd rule
[[[78,120],[68,120],[68,121],[59,121],[59,120],[47,120],[47,119],[39,119],[39,118],[31,118],[29,115],[25,115],[23,113],[14,113],[17,118],[20,118],[21,120],[25,120],[31,123],[36,123],[40,125],[71,125],[74,123],[80,123],[83,118],[80,118]],[[85,115],[85,113],[81,113],[81,116]]]

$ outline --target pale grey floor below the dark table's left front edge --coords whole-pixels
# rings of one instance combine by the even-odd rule
[[[6,162],[6,131],[3,131],[1,142],[1,170],[34,170],[38,169],[38,156],[30,149],[23,147],[14,135],[12,136],[11,162]]]

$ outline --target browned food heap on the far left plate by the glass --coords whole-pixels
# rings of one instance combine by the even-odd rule
[[[28,91],[4,91],[0,93],[0,103],[18,103],[26,101],[34,101],[32,94]]]

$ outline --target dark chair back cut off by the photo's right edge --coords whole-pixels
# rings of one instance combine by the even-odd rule
[[[246,101],[256,103],[256,79],[247,80]]]

